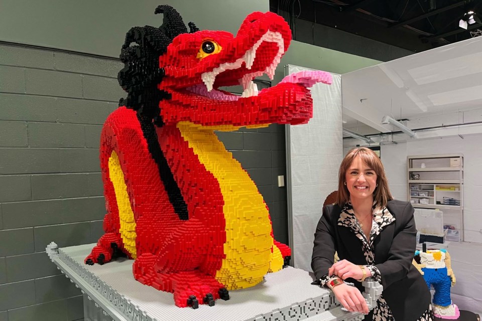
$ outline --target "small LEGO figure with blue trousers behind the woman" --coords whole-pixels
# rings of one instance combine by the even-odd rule
[[[450,299],[450,287],[455,284],[455,275],[451,269],[450,255],[447,250],[416,251],[414,265],[422,273],[428,288],[433,286],[435,289],[433,314],[439,318],[458,319],[460,311]]]

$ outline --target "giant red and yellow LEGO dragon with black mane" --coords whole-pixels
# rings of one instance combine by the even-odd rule
[[[312,116],[309,87],[329,73],[302,72],[258,91],[291,41],[273,13],[249,15],[236,36],[199,31],[169,6],[161,27],[132,28],[118,74],[127,91],[104,123],[100,162],[105,234],[85,258],[127,255],[134,277],[174,293],[178,306],[214,305],[228,290],[254,286],[291,255],[273,239],[255,183],[214,130],[302,124]],[[220,86],[242,84],[241,96]]]

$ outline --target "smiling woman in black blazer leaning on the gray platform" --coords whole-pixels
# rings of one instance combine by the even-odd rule
[[[311,267],[321,286],[348,311],[368,314],[365,320],[432,320],[430,291],[412,265],[413,207],[393,200],[382,162],[369,148],[351,149],[338,177],[337,202],[325,207],[315,233]],[[333,264],[335,251],[340,261]],[[383,286],[370,313],[360,293],[367,277]]]

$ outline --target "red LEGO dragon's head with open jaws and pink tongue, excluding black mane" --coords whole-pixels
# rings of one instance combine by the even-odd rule
[[[306,123],[313,113],[308,88],[330,83],[329,74],[304,71],[261,91],[253,82],[263,74],[273,79],[290,41],[288,24],[273,13],[251,14],[235,37],[209,31],[178,36],[160,56],[165,77],[159,89],[171,95],[161,102],[163,122],[189,121],[210,128]],[[211,54],[202,52],[206,42]],[[219,89],[239,84],[244,88],[240,96]]]

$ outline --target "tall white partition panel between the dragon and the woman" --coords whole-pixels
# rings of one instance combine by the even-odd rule
[[[288,65],[285,74],[308,68]],[[316,224],[325,198],[337,189],[342,159],[341,76],[333,84],[311,88],[313,118],[307,124],[286,125],[288,228],[292,265],[311,271]]]

